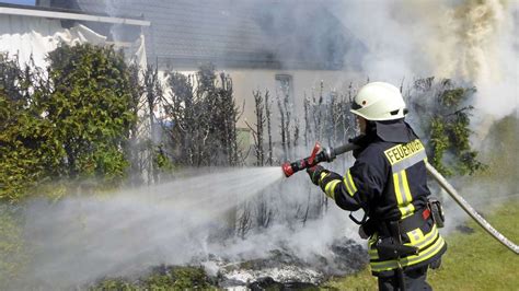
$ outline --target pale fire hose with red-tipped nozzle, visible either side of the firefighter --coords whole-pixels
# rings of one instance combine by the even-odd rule
[[[301,159],[296,162],[286,162],[281,165],[282,173],[286,177],[290,177],[295,173],[312,167],[321,162],[332,162],[337,158],[337,155],[353,151],[357,149],[358,146],[354,143],[346,143],[338,148],[321,148],[319,143],[315,143],[315,147],[312,150],[310,156]],[[427,161],[425,162],[427,172],[435,178],[435,181],[443,188],[452,199],[486,232],[488,232],[499,243],[504,244],[514,253],[519,254],[519,246],[508,240],[505,235],[499,233],[494,229],[488,221],[486,221],[477,211],[470,206],[463,197],[461,197],[458,191],[450,185],[450,183]]]

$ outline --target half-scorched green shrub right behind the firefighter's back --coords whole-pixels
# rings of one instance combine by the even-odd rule
[[[465,175],[485,167],[470,144],[468,105],[476,89],[460,86],[450,79],[418,79],[410,92],[410,104],[419,116],[420,128],[428,137],[430,163],[443,175]]]

